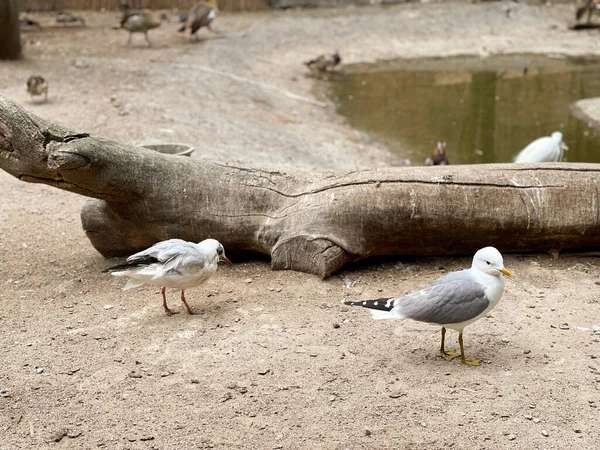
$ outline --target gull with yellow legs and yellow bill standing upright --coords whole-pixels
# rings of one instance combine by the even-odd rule
[[[446,351],[444,348],[446,328],[456,330],[460,360],[464,364],[478,366],[480,360],[465,357],[463,330],[498,304],[504,290],[503,275],[512,277],[504,268],[502,255],[494,247],[485,247],[475,253],[470,269],[444,275],[420,291],[403,297],[344,303],[369,308],[373,319],[412,319],[441,325],[440,354],[446,361],[458,357],[454,350]]]

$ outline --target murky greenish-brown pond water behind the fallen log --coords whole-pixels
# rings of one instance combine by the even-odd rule
[[[600,96],[600,61],[498,56],[346,66],[328,95],[350,125],[421,165],[439,140],[451,164],[510,162],[563,133],[565,160],[600,163],[600,133],[571,114]]]

